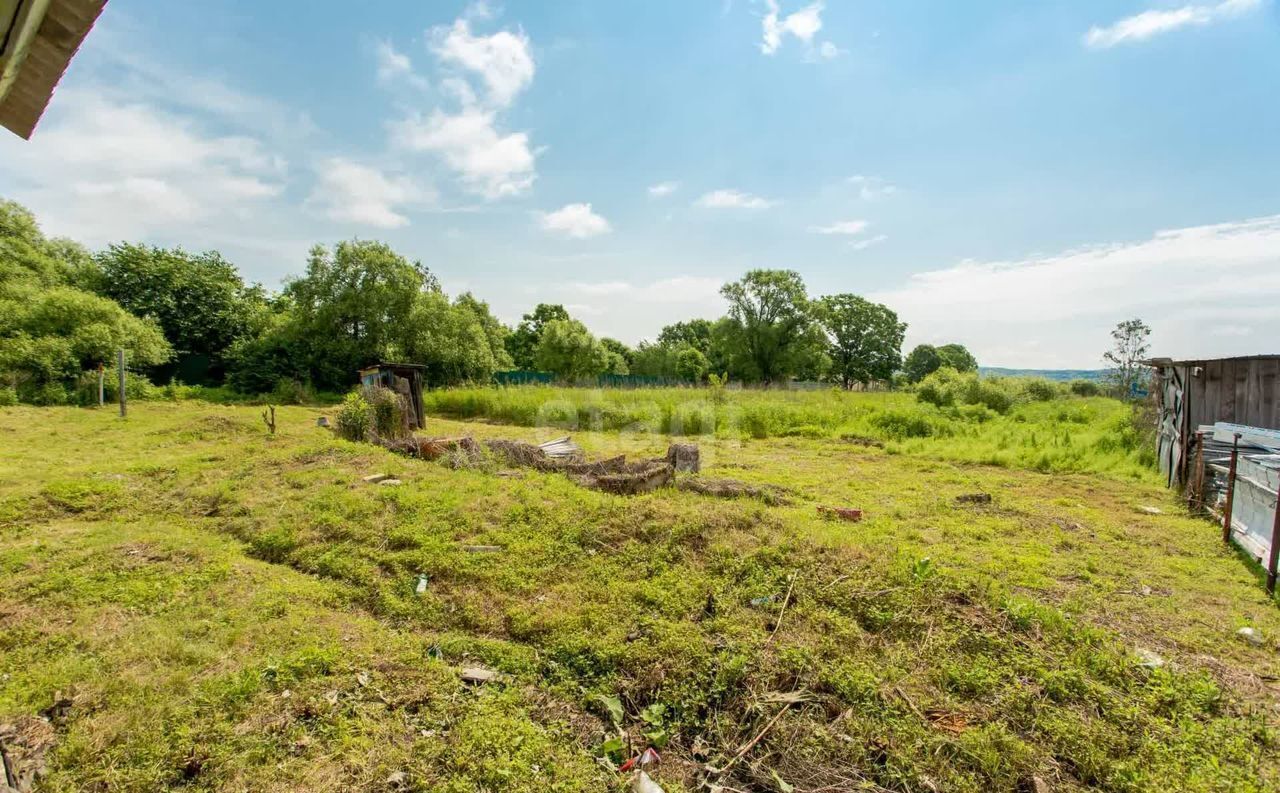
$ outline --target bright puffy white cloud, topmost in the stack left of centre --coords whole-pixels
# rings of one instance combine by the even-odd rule
[[[490,36],[471,33],[471,23],[457,19],[452,27],[431,31],[431,51],[440,63],[471,72],[488,88],[489,101],[506,107],[534,81],[534,58],[522,31],[498,31]]]

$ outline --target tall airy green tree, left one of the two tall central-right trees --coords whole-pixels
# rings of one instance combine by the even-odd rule
[[[799,272],[751,270],[724,284],[721,294],[728,321],[717,329],[719,343],[742,376],[769,385],[820,357],[820,334]]]

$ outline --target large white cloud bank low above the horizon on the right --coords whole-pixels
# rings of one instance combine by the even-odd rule
[[[1153,352],[1271,352],[1280,336],[1280,215],[1020,261],[963,261],[872,295],[910,324],[909,344],[961,342],[991,365],[1098,366],[1108,331],[1140,316]],[[1215,336],[1217,326],[1244,327]]]

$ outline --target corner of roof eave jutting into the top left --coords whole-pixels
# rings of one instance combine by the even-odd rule
[[[106,0],[0,0],[0,124],[31,138]]]

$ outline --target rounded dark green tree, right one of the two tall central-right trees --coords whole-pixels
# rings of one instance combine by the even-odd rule
[[[902,366],[906,322],[887,306],[856,294],[832,294],[818,301],[817,315],[827,334],[831,373],[846,389],[888,380]]]

